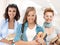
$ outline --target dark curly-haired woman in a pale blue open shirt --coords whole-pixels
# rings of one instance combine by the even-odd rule
[[[20,18],[17,5],[9,4],[4,14],[5,20],[0,25],[0,45],[9,45],[12,43]]]

